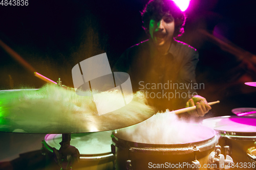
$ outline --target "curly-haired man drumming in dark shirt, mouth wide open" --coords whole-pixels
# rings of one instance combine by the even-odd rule
[[[185,15],[170,0],[151,0],[143,9],[143,29],[150,37],[128,48],[115,70],[130,75],[133,91],[143,91],[155,111],[197,106],[183,116],[204,116],[211,107],[197,95],[198,52],[175,38],[184,32]]]

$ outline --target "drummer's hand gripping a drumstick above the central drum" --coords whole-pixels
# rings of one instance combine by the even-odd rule
[[[191,116],[204,116],[211,109],[206,99],[200,95],[195,95],[193,96],[193,98],[189,99],[186,103],[186,107],[195,106],[195,104],[197,106],[197,109],[188,112],[188,114],[190,114]]]

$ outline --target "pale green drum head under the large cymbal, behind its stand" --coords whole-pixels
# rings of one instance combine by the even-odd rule
[[[81,155],[96,155],[111,153],[111,133],[105,132],[90,132],[90,133],[73,133],[71,134],[70,145],[76,147]],[[61,134],[48,134],[45,141],[50,148],[59,150]]]

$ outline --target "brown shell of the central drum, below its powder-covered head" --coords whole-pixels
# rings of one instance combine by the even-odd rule
[[[178,164],[189,163],[195,160],[195,154],[197,160],[201,164],[200,169],[203,168],[203,164],[207,164],[208,156],[211,151],[214,150],[215,145],[218,143],[218,136],[214,136],[210,139],[182,144],[149,144],[149,143],[137,143],[126,141],[118,138],[115,134],[112,138],[115,145],[116,154],[116,169],[126,169],[126,160],[131,160],[133,170],[136,169],[152,169],[152,164],[164,164],[168,168],[171,168],[170,164],[177,164],[177,168],[172,169],[189,169],[189,166],[178,166]],[[195,151],[194,145],[196,145],[198,151]],[[166,168],[166,167],[165,167]]]

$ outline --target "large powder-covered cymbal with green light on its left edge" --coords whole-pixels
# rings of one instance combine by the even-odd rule
[[[58,88],[61,92],[66,90]],[[79,103],[85,96],[72,91],[69,95],[74,93],[79,97],[72,101],[55,92],[49,89],[0,91],[0,131],[43,134],[109,131],[138,124],[154,114],[152,109],[133,99],[118,110],[98,115],[90,109],[93,104]],[[56,100],[48,101],[49,95]],[[81,110],[80,105],[88,109]]]

